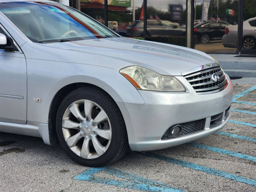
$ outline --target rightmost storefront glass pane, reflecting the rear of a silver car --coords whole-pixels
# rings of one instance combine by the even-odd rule
[[[242,48],[256,50],[256,0],[244,0],[243,20]]]

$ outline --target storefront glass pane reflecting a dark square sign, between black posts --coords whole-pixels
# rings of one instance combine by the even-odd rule
[[[147,0],[146,35],[147,40],[186,46],[186,0]]]

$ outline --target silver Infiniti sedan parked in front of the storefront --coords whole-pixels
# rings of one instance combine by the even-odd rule
[[[209,55],[120,37],[56,2],[0,3],[0,131],[60,142],[79,164],[217,132],[233,86]]]

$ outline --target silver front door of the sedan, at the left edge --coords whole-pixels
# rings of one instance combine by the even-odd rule
[[[0,33],[10,35],[0,24]],[[0,48],[0,122],[26,124],[26,59],[21,51]]]

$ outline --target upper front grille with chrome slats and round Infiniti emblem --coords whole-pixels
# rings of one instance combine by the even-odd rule
[[[219,65],[211,64],[211,67],[203,68],[203,70],[202,68],[199,71],[183,75],[198,94],[219,92],[228,86],[228,80]],[[218,82],[212,80],[214,74],[220,78]]]

